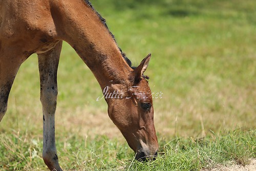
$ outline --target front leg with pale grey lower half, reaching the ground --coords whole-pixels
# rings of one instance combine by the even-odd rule
[[[40,101],[44,136],[42,158],[50,170],[61,170],[55,146],[55,111],[57,104],[57,68],[62,41],[50,51],[38,54]]]

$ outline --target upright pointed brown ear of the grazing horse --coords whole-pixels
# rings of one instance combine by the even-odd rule
[[[141,62],[138,67],[136,67],[133,71],[133,75],[135,77],[135,81],[139,81],[140,78],[143,76],[143,73],[146,71],[148,62],[150,62],[151,53],[148,54]],[[145,76],[148,78],[147,76]]]

